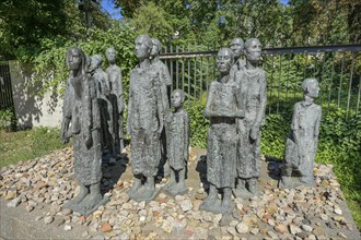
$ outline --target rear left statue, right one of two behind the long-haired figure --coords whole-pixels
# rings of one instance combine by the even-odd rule
[[[125,108],[124,95],[123,95],[123,79],[121,70],[116,64],[117,52],[110,47],[105,51],[106,58],[109,62],[109,67],[106,69],[106,73],[109,76],[110,94],[108,98],[113,107],[113,136],[115,144],[115,152],[121,153],[124,148],[124,133],[123,133],[123,113]],[[114,153],[113,153],[114,154]]]

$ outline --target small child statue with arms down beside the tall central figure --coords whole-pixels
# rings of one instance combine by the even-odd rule
[[[167,158],[171,166],[171,179],[163,187],[172,195],[182,195],[188,192],[185,184],[186,167],[189,148],[189,118],[184,110],[184,92],[175,89],[171,96],[174,112],[166,117]]]

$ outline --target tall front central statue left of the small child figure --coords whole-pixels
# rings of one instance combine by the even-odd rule
[[[154,177],[161,159],[163,103],[159,71],[150,63],[152,45],[147,35],[136,38],[139,64],[130,72],[127,133],[131,135],[133,183],[128,193],[136,201],[156,195]]]

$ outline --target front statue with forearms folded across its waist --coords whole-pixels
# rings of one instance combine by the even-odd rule
[[[240,88],[230,76],[233,52],[222,48],[216,59],[221,75],[210,84],[205,116],[210,119],[207,147],[207,180],[209,194],[200,209],[229,214],[234,204],[231,201],[236,175],[237,133],[236,118],[244,116],[240,108]],[[223,197],[218,197],[219,192]]]

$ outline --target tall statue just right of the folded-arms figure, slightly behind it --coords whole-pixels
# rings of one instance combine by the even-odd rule
[[[260,170],[260,135],[265,121],[267,101],[267,74],[258,68],[261,45],[257,38],[245,43],[245,67],[235,73],[241,87],[245,118],[237,119],[240,145],[237,153],[237,184],[234,194],[248,197],[258,194],[257,181]]]

